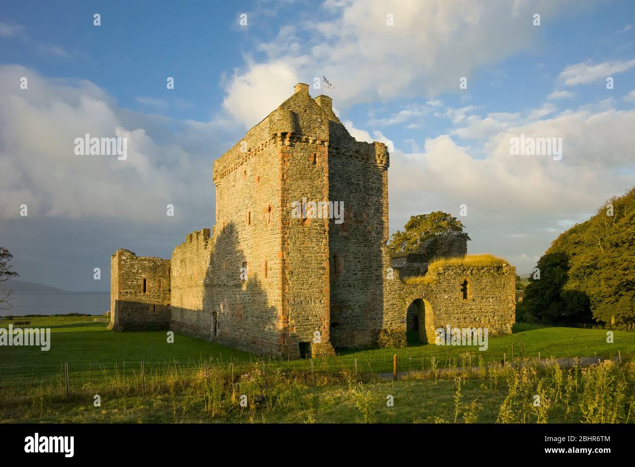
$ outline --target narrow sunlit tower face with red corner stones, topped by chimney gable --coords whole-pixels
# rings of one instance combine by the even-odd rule
[[[288,356],[332,354],[328,226],[311,203],[329,201],[328,116],[300,83],[283,103],[297,127],[283,135],[280,151],[282,206],[281,351]],[[293,203],[307,206],[304,219],[291,215]],[[327,213],[328,214],[328,213]],[[302,213],[304,217],[304,213]],[[317,334],[319,333],[319,334]]]

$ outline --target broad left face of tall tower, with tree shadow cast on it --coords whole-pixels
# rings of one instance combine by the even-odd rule
[[[279,125],[265,118],[214,161],[216,226],[211,308],[215,339],[279,355],[281,205]],[[273,133],[272,133],[273,132]],[[246,281],[241,268],[246,267]]]

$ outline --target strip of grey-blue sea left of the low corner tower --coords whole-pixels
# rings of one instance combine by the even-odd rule
[[[2,306],[4,307],[5,304]],[[0,310],[0,315],[65,315],[67,313],[104,315],[109,309],[109,292],[18,290],[11,295],[11,308]]]

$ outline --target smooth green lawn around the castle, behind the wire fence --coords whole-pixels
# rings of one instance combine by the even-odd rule
[[[0,368],[4,372],[4,384],[12,379],[12,373],[22,375],[22,379],[29,377],[32,381],[40,376],[57,377],[60,375],[61,363],[69,363],[71,372],[93,372],[95,368],[100,367],[121,369],[122,365],[124,368],[125,365],[128,365],[128,368],[137,368],[140,367],[141,360],[144,360],[146,365],[152,365],[152,362],[187,365],[201,360],[208,361],[210,357],[212,362],[234,363],[258,359],[247,352],[182,334],[176,334],[175,342],[168,344],[165,331],[114,332],[106,328],[106,323],[93,323],[92,318],[63,316],[28,319],[31,321],[30,327],[51,328],[51,349],[41,351],[32,346],[0,347]],[[7,321],[0,321],[0,326],[7,325]],[[474,364],[477,363],[478,356],[483,356],[485,362],[500,361],[503,358],[509,360],[512,352],[515,357],[540,355],[542,358],[594,355],[612,358],[618,355],[618,351],[624,357],[631,355],[635,351],[635,333],[613,333],[614,343],[609,344],[606,342],[605,330],[544,328],[520,324],[514,327],[514,334],[490,337],[486,351],[479,351],[476,347],[422,344],[410,334],[407,348],[340,350],[337,358],[315,359],[314,367],[354,368],[354,361],[357,359],[360,371],[389,372],[392,370],[394,353],[398,355],[399,371],[428,369],[433,356],[438,360],[439,366],[443,367],[449,360],[458,358],[467,351],[474,355]],[[265,360],[269,365],[269,359]],[[304,369],[308,367],[309,362],[272,361],[271,365]]]

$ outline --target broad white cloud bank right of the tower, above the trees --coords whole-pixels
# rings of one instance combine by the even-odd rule
[[[632,186],[634,125],[635,111],[578,109],[536,121],[511,119],[482,148],[439,135],[427,139],[421,153],[398,150],[389,170],[391,231],[410,215],[439,209],[458,215],[466,204],[461,220],[472,237],[469,250],[507,255],[519,271],[529,271],[558,233]],[[562,137],[563,159],[511,156],[509,140],[520,133]]]

